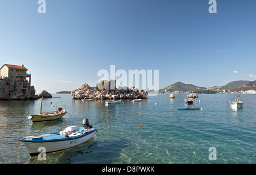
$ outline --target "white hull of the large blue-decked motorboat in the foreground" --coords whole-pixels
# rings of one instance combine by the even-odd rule
[[[73,138],[67,139],[47,141],[20,139],[20,141],[22,141],[26,146],[30,156],[37,156],[42,152],[42,148],[40,147],[43,147],[46,153],[65,150],[71,147],[75,147],[93,138],[93,136],[96,134],[95,131],[96,129],[93,129],[91,132],[88,132],[88,134],[82,134],[81,136],[74,136]]]

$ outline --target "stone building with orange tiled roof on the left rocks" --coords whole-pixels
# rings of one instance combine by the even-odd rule
[[[0,76],[0,96],[10,95],[11,93],[31,93],[31,74],[27,68],[16,65],[3,65]],[[34,88],[34,87],[33,87]]]

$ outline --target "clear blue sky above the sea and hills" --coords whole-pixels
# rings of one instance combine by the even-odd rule
[[[176,82],[256,79],[256,1],[0,0],[0,64],[24,65],[36,93],[95,86],[97,72],[159,70]]]

